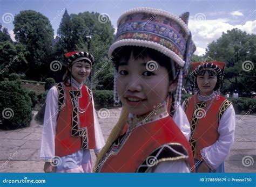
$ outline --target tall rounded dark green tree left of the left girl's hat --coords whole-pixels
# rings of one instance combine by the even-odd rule
[[[23,44],[30,53],[26,75],[41,80],[46,70],[49,70],[52,54],[53,29],[49,19],[33,10],[21,11],[14,18],[14,34],[16,41]]]

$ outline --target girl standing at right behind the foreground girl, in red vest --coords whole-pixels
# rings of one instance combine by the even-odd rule
[[[235,112],[220,96],[224,62],[192,63],[194,96],[183,108],[190,121],[190,144],[196,172],[224,172],[224,160],[234,141]]]

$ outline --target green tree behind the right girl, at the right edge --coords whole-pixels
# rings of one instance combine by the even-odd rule
[[[251,91],[256,89],[255,60],[256,36],[234,28],[223,33],[217,41],[213,41],[206,49],[206,55],[216,61],[226,63],[223,93],[227,90]],[[250,61],[251,70],[245,69],[246,61]]]

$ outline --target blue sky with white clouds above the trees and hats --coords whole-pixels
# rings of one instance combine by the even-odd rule
[[[255,2],[255,0],[0,0],[0,22],[8,28],[11,37],[14,38],[12,31],[14,25],[11,20],[22,10],[35,10],[48,17],[55,35],[65,8],[69,14],[84,11],[106,13],[115,28],[119,16],[131,8],[146,6],[163,9],[176,15],[188,11],[190,12],[188,27],[197,46],[195,54],[202,55],[210,42],[232,28],[240,28],[247,33],[256,34]],[[9,19],[6,15],[9,15]]]

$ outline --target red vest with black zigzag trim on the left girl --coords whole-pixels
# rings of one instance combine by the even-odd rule
[[[66,156],[80,149],[95,148],[95,128],[93,106],[90,103],[87,110],[89,93],[85,85],[82,89],[74,90],[63,83],[56,84],[58,89],[58,111],[55,155]],[[76,99],[76,101],[75,101]],[[78,105],[79,103],[79,112]]]

